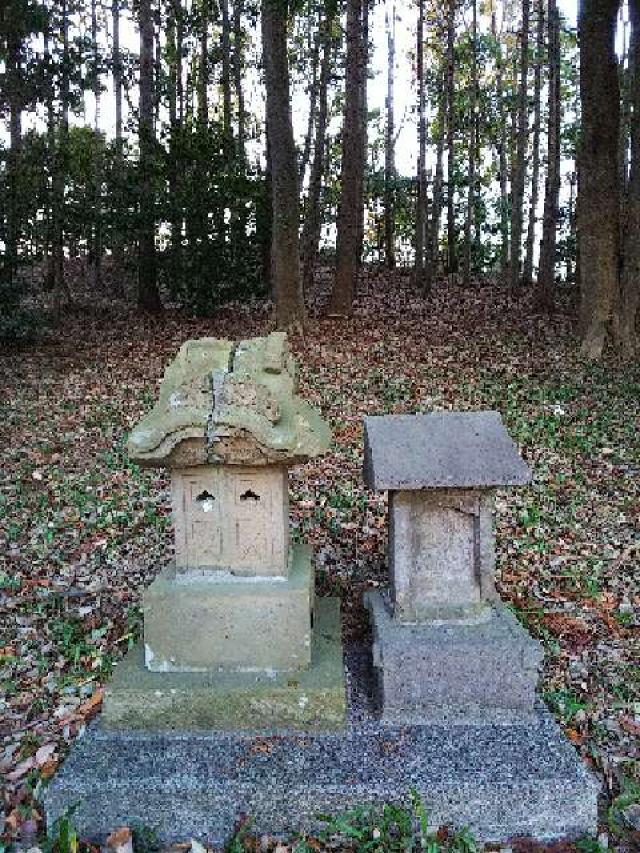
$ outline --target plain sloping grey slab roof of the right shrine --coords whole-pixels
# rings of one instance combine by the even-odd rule
[[[531,470],[499,412],[365,418],[364,479],[376,491],[523,486]]]

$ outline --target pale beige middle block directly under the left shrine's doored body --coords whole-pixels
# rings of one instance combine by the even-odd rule
[[[299,670],[311,660],[311,549],[291,549],[288,578],[186,575],[169,568],[143,595],[154,672]]]

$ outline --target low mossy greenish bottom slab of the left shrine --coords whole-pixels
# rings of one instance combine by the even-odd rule
[[[247,642],[253,642],[247,635]],[[268,643],[269,640],[263,640]],[[107,685],[102,725],[111,729],[303,729],[345,725],[340,603],[323,598],[309,669],[295,673],[155,673],[141,644],[118,665]]]

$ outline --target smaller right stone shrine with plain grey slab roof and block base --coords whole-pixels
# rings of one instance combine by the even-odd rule
[[[365,420],[389,492],[391,591],[367,595],[383,719],[533,713],[542,649],[496,595],[493,529],[496,487],[530,479],[497,412]]]

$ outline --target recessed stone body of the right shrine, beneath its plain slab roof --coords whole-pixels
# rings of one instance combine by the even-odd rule
[[[407,622],[478,615],[496,598],[493,495],[391,492],[394,615]]]

